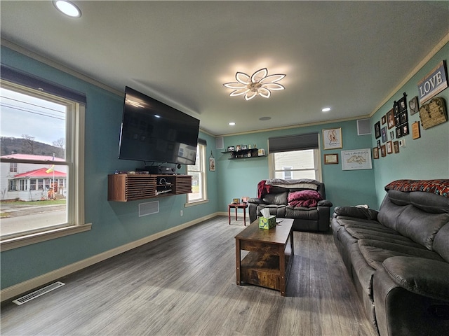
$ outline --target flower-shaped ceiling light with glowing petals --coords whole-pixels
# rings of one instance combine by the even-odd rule
[[[279,80],[284,78],[286,75],[282,73],[270,76],[267,75],[267,68],[255,71],[253,76],[248,76],[243,72],[237,72],[236,83],[225,83],[223,85],[234,90],[231,94],[229,94],[231,97],[245,94],[246,100],[253,99],[257,95],[260,95],[260,97],[269,98],[272,95],[272,91],[285,89],[283,85],[276,82],[279,82]]]

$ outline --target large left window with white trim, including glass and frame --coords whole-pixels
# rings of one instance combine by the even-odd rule
[[[83,209],[84,104],[44,91],[0,82],[0,190],[8,200],[1,202],[2,251],[90,229]]]

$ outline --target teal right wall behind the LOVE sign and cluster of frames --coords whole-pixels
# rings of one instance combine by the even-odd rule
[[[427,64],[425,64],[406,85],[403,85],[394,97],[382,106],[371,118],[371,124],[377,123],[392,107],[394,101],[407,94],[407,101],[418,95],[417,83],[422,80],[438,63],[448,60],[449,43],[439,50]],[[443,90],[436,97],[443,97],[448,109],[449,89]],[[409,117],[410,129],[415,121],[420,121],[420,113]],[[393,130],[393,129],[391,129]],[[449,179],[449,122],[424,130],[420,125],[421,137],[413,140],[412,134],[406,137],[406,147],[399,148],[398,154],[387,155],[385,158],[374,160],[374,172],[376,181],[377,202],[382,202],[386,186],[396,179]],[[396,139],[395,139],[396,140]],[[376,139],[372,137],[372,146],[375,147]]]

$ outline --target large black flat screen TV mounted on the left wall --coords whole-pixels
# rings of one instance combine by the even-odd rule
[[[199,120],[125,88],[119,159],[194,165]]]

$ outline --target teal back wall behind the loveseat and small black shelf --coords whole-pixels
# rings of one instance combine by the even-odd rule
[[[321,168],[323,182],[326,185],[326,198],[333,202],[334,207],[342,205],[369,204],[375,207],[375,179],[373,169],[348,171],[342,166],[324,165],[324,154],[337,153],[341,162],[341,151],[352,149],[371,148],[370,135],[357,135],[356,120],[341,123],[328,123],[309,127],[290,128],[271,132],[259,132],[232,137],[225,137],[225,148],[240,144],[257,144],[257,148],[267,151],[269,137],[282,137],[291,134],[306,134],[318,132],[320,142],[323,141],[322,130],[327,128],[342,128],[343,148],[336,150],[321,150]],[[228,160],[228,154],[218,154],[217,171],[219,174],[218,186],[220,209],[225,211],[227,204],[233,198],[250,196],[256,197],[257,183],[269,178],[268,158],[248,158],[241,160]]]

